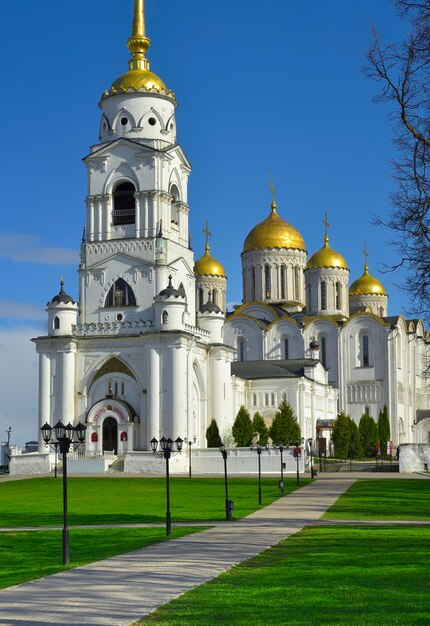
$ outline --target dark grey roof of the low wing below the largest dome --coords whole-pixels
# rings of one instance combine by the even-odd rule
[[[315,367],[317,359],[289,359],[282,361],[233,361],[233,376],[246,380],[259,378],[298,378],[304,376],[306,366]]]

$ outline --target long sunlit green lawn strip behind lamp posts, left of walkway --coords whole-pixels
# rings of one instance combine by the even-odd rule
[[[310,479],[301,479],[300,486]],[[285,494],[296,489],[295,479],[285,480]],[[278,480],[262,479],[263,504],[279,497]],[[223,478],[172,478],[172,521],[215,521],[225,518]],[[69,525],[164,523],[165,479],[69,478]],[[229,497],[238,519],[261,508],[257,478],[231,478]],[[61,478],[32,478],[0,483],[0,526],[62,524]]]

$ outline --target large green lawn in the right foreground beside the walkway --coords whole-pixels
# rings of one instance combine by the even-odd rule
[[[424,625],[429,561],[427,527],[306,528],[138,624]]]

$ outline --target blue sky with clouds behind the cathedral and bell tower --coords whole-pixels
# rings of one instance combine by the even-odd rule
[[[132,0],[30,0],[2,7],[3,180],[0,227],[0,440],[37,437],[37,355],[46,302],[78,296],[85,220],[81,159],[98,141],[104,89],[127,68]],[[330,243],[351,282],[369,266],[389,293],[390,314],[408,303],[386,216],[394,188],[388,109],[361,72],[372,20],[384,40],[405,31],[389,0],[146,0],[151,69],[175,91],[178,140],[193,165],[189,185],[195,257],[204,221],[211,252],[228,275],[228,302],[241,299],[240,252],[269,212],[269,172],[278,210],[309,254]]]

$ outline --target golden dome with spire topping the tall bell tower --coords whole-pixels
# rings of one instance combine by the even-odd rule
[[[127,41],[132,58],[128,62],[129,70],[114,80],[109,91],[103,93],[103,98],[127,91],[156,91],[175,99],[165,83],[156,74],[149,70],[149,61],[146,58],[151,40],[145,35],[145,11],[143,0],[135,0],[133,31]]]

